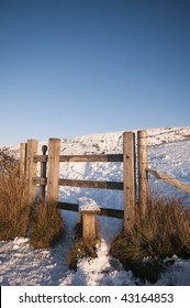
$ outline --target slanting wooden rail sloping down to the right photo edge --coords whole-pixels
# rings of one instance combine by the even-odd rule
[[[161,179],[161,180],[166,182],[167,184],[172,185],[177,189],[180,189],[180,190],[182,190],[187,194],[190,194],[190,186],[182,183],[181,180],[179,180],[179,179],[177,179],[177,178],[175,178],[170,175],[157,172],[157,170],[153,170],[153,169],[149,169],[149,168],[147,170],[148,170],[148,173],[150,173],[152,175],[154,175],[158,179]]]

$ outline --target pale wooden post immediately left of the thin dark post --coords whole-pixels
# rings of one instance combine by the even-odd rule
[[[26,155],[26,184],[29,191],[30,204],[35,204],[35,184],[33,177],[37,175],[37,163],[34,163],[33,156],[37,154],[37,141],[27,140],[27,155]]]

